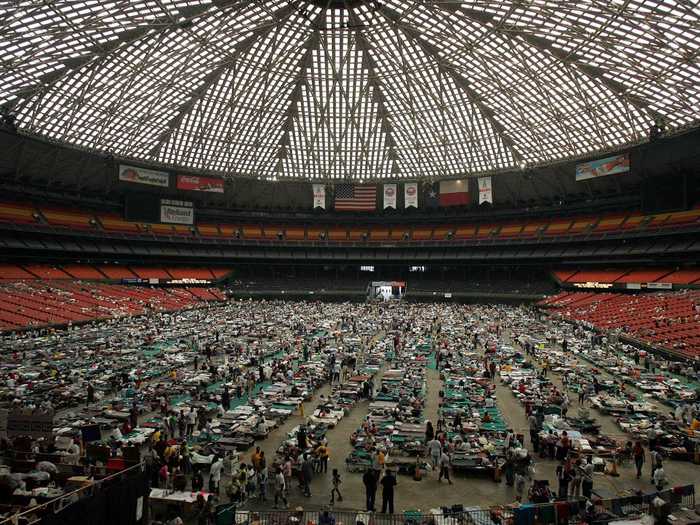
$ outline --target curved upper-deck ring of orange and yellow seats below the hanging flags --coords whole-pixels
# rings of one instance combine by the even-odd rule
[[[35,206],[29,203],[0,203],[0,224],[32,225],[35,228],[63,228],[76,231],[104,231],[114,235],[147,235],[163,237],[235,238],[244,240],[317,241],[326,233],[334,242],[407,242],[459,241],[496,239],[531,239],[538,237],[606,236],[631,231],[656,231],[700,226],[700,208],[687,211],[644,215],[639,212],[611,213],[599,216],[523,220],[519,222],[487,222],[472,224],[436,224],[433,226],[353,224],[349,228],[337,225],[213,224],[199,223],[194,229],[183,225],[142,224],[128,222],[116,213],[86,212],[70,208]],[[448,236],[452,232],[453,235]],[[408,239],[405,233],[409,233]]]

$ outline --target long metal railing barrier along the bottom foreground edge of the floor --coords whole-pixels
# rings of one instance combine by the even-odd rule
[[[660,497],[672,508],[695,506],[695,486],[684,485],[661,492],[602,500],[594,498],[595,508],[603,513],[586,516],[585,500],[557,501],[546,504],[503,505],[491,508],[441,508],[430,514],[405,511],[398,514],[351,510],[237,510],[234,505],[216,509],[216,525],[514,525],[518,514],[528,514],[523,522],[574,525],[582,522],[607,524],[629,516],[654,514],[654,499]]]

